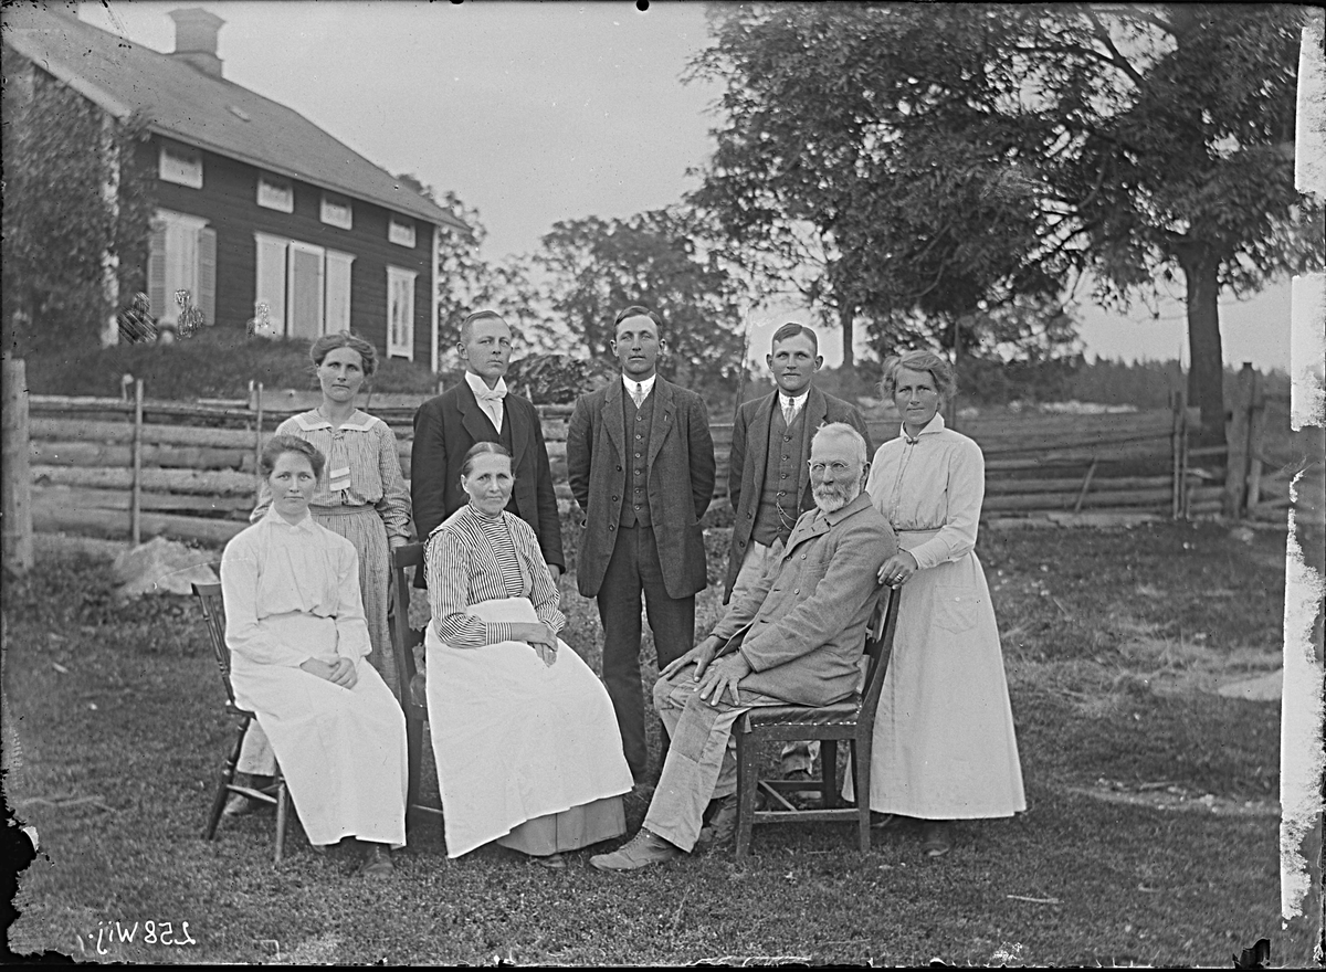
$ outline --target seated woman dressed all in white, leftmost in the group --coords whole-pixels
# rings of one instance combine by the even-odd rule
[[[276,435],[260,468],[272,507],[221,554],[236,701],[257,713],[314,846],[357,837],[361,871],[406,842],[406,720],[371,651],[354,545],[309,516],[325,459]]]

